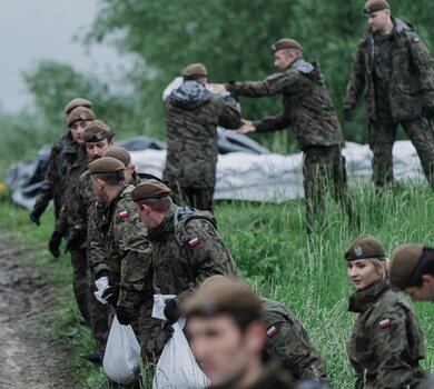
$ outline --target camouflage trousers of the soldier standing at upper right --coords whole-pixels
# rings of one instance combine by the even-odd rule
[[[393,121],[369,122],[369,147],[374,158],[373,181],[376,187],[393,182],[392,149],[398,123]],[[426,118],[401,122],[405,133],[415,147],[422,169],[430,186],[434,189],[434,130]]]

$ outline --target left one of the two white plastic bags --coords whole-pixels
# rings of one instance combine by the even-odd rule
[[[119,323],[115,315],[103,355],[107,377],[118,383],[129,383],[140,375],[140,345],[131,326]]]

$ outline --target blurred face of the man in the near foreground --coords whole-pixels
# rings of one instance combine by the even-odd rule
[[[187,333],[193,353],[213,386],[241,381],[260,366],[265,328],[251,323],[244,332],[228,315],[191,317]]]

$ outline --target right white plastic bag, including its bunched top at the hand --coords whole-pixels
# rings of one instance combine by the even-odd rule
[[[174,296],[154,296],[154,317],[166,319],[161,312],[169,298]],[[172,325],[174,333],[158,360],[152,389],[201,389],[209,386],[209,380],[197,365],[184,335],[185,322],[185,318],[180,318]]]

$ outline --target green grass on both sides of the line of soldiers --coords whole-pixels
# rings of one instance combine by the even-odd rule
[[[432,215],[433,194],[426,186],[397,188],[394,196],[378,199],[373,188],[356,189],[356,202],[362,215],[359,231],[347,228],[346,218],[333,201],[327,202],[327,226],[320,236],[307,240],[304,229],[303,202],[257,205],[248,202],[219,203],[216,217],[241,273],[262,293],[287,305],[300,319],[320,350],[329,377],[336,388],[352,388],[345,343],[354,320],[347,312],[352,286],[346,278],[343,255],[359,233],[373,233],[391,252],[404,242],[434,245]],[[60,337],[79,322],[70,287],[68,256],[50,258],[47,241],[52,218],[43,216],[43,226],[28,221],[28,212],[3,198],[0,228],[13,232],[17,240],[32,249],[30,258],[45,267],[51,281],[59,287],[59,301],[52,328]],[[428,358],[425,367],[434,368],[434,313],[432,305],[415,305],[426,335]],[[71,359],[83,388],[105,387],[100,368],[86,361],[92,349],[89,331],[69,341]]]

